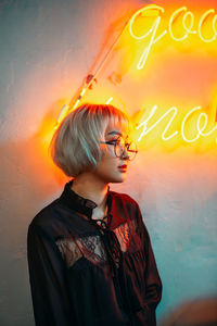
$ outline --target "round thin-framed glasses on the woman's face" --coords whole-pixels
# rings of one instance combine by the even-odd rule
[[[113,145],[114,152],[117,158],[124,158],[125,151],[127,151],[129,161],[132,161],[138,153],[136,142],[129,141],[128,138],[124,139],[123,137],[118,137],[115,140],[101,141],[101,142],[107,143],[107,145]]]

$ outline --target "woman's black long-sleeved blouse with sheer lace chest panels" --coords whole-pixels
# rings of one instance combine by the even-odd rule
[[[106,220],[92,220],[72,184],[28,227],[36,325],[156,325],[162,283],[138,203],[108,188]]]

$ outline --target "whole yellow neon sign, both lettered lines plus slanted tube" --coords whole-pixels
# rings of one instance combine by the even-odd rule
[[[189,38],[190,35],[197,35],[199,39],[202,42],[210,43],[214,42],[217,39],[217,14],[215,13],[214,9],[209,9],[205,11],[202,16],[199,20],[197,25],[195,26],[194,22],[194,14],[188,10],[187,7],[181,7],[173,12],[173,14],[168,18],[168,25],[167,28],[162,32],[159,35],[157,35],[157,32],[159,29],[159,25],[162,22],[162,17],[165,13],[164,8],[156,5],[156,4],[150,4],[146,5],[140,10],[138,10],[129,20],[129,22],[126,24],[126,28],[129,28],[130,36],[138,40],[146,40],[149,38],[148,45],[145,46],[145,49],[143,50],[142,55],[140,57],[139,63],[138,63],[138,70],[141,70],[150,54],[150,51],[157,41],[159,41],[164,36],[168,35],[173,40],[176,42],[184,41]],[[152,17],[154,21],[152,21],[151,25],[150,20],[145,20],[145,17]],[[140,33],[140,23],[141,18],[143,20],[142,27],[148,28],[148,32],[141,34]],[[208,21],[209,26],[212,26],[212,29],[209,30],[209,38],[205,37],[205,23]],[[139,22],[139,23],[138,23]],[[177,33],[177,26],[176,24],[180,24]],[[138,28],[139,27],[139,28]],[[123,30],[124,32],[124,30]],[[122,32],[122,34],[123,34]],[[139,35],[140,33],[140,35]],[[122,36],[120,34],[120,36]],[[212,36],[210,36],[212,35]],[[119,37],[120,37],[119,36]],[[115,41],[115,43],[118,41],[118,39]],[[112,47],[112,49],[114,46]],[[112,50],[106,54],[106,59],[108,58],[108,54]],[[106,61],[105,59],[105,61]],[[101,66],[104,65],[105,61],[102,62]],[[99,71],[101,70],[101,66],[99,67]],[[97,72],[98,73],[98,72]],[[95,73],[95,75],[97,75]],[[93,76],[93,78],[95,77]],[[91,80],[90,80],[91,82]],[[56,126],[60,124],[62,118],[69,113],[72,110],[77,108],[77,105],[80,103],[82,96],[86,93],[86,91],[90,88],[89,84],[86,84],[85,87],[81,88],[81,91],[79,92],[79,97],[77,98],[76,102],[71,102],[69,105],[64,105],[64,108],[61,110]],[[106,101],[106,104],[111,103],[113,101],[113,97],[108,98]],[[74,103],[74,104],[73,104]],[[73,105],[73,106],[72,106]],[[181,139],[184,142],[192,143],[195,142],[200,138],[206,138],[206,137],[214,137],[214,133],[217,130],[217,124],[215,124],[215,118],[210,123],[208,122],[208,115],[205,112],[202,112],[201,106],[195,106],[191,109],[188,113],[182,116],[180,120],[178,117],[179,112],[176,106],[171,106],[169,110],[167,110],[165,113],[163,113],[159,117],[157,114],[157,105],[154,105],[152,110],[149,113],[149,116],[145,117],[142,122],[137,123],[136,129],[142,128],[142,131],[139,136],[139,141],[146,136],[149,133],[151,133],[162,121],[168,121],[165,129],[162,133],[162,140],[168,141],[170,139],[176,139],[176,137],[181,137]],[[146,115],[146,113],[145,113]],[[141,120],[140,120],[141,121]],[[191,125],[191,135],[188,133],[189,125],[188,122],[193,122]],[[210,117],[209,117],[210,121]],[[177,122],[180,124],[179,128],[175,131],[170,131],[173,129],[173,125],[177,125]],[[208,131],[206,129],[209,129]],[[206,131],[205,131],[206,130]],[[217,138],[216,138],[217,142]]]

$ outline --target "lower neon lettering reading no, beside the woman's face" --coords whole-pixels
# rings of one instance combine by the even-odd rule
[[[169,135],[169,136],[165,136],[165,134],[168,131],[168,128],[170,127],[171,123],[174,122],[175,120],[175,116],[178,114],[178,109],[173,106],[170,108],[166,113],[164,113],[153,125],[151,125],[149,128],[148,128],[148,122],[153,117],[153,115],[155,114],[156,112],[156,109],[157,109],[157,105],[154,105],[149,114],[149,116],[142,122],[140,123],[136,129],[139,129],[143,126],[143,129],[142,129],[142,133],[140,134],[140,137],[138,138],[138,141],[140,141],[142,139],[142,137],[144,137],[145,135],[148,135],[151,130],[154,129],[154,127],[159,124],[159,122],[165,117],[167,116],[168,114],[170,114],[173,112],[173,115],[171,115],[171,118],[169,120],[166,128],[164,129],[164,131],[162,133],[162,139],[164,141],[166,140],[169,140],[171,139],[173,137],[175,137],[176,135],[178,135],[178,130],[176,130],[173,135]],[[197,122],[196,122],[196,136],[193,138],[193,139],[188,139],[187,136],[186,136],[186,131],[184,131],[184,128],[186,128],[186,123],[187,123],[187,120],[190,117],[190,115],[192,115],[195,111],[197,110],[201,110],[202,108],[201,106],[196,106],[196,108],[193,108],[192,110],[190,110],[186,116],[183,117],[182,120],[182,123],[181,123],[181,129],[180,129],[180,134],[181,134],[181,137],[182,139],[186,141],[186,142],[193,142],[193,141],[196,141],[200,136],[203,136],[203,137],[207,137],[209,136],[210,134],[213,134],[215,130],[217,130],[217,124],[207,133],[203,133],[204,129],[207,127],[207,123],[208,123],[208,116],[205,112],[202,112],[200,113],[199,117],[197,117]],[[204,123],[203,123],[203,126],[201,127],[201,120],[202,117],[204,117]]]

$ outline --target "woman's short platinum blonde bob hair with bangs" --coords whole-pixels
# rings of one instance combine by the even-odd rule
[[[110,122],[131,129],[127,114],[108,104],[85,103],[65,116],[49,147],[53,162],[65,175],[94,171],[102,158],[99,141],[104,140]]]

